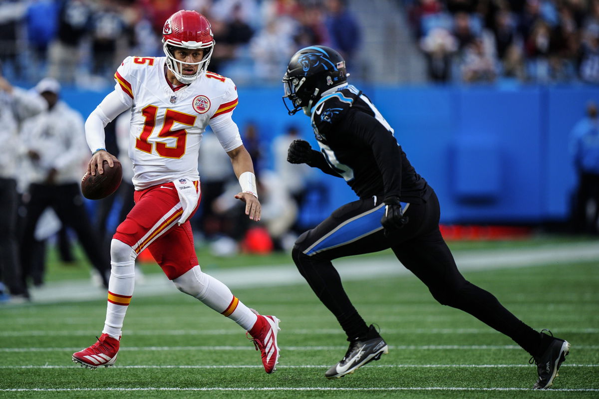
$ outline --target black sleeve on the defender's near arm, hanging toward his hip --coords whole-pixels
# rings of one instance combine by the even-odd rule
[[[353,111],[340,129],[351,132],[349,139],[371,148],[383,176],[385,197],[401,195],[401,147],[389,130],[365,112]]]

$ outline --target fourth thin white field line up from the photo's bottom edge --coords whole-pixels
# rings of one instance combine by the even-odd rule
[[[556,334],[597,334],[599,328],[552,328]],[[315,328],[313,330],[286,330],[292,335],[313,335],[313,334],[337,334],[344,335],[340,328]],[[126,336],[185,336],[185,335],[238,335],[238,328],[232,330],[123,330]],[[45,336],[94,336],[96,330],[75,330],[75,331],[0,331],[0,337],[45,337]],[[385,328],[383,334],[500,334],[491,328]]]

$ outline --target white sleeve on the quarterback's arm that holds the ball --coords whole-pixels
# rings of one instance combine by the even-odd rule
[[[110,121],[114,120],[123,111],[131,108],[129,101],[123,102],[123,97],[114,90],[109,93],[102,102],[96,106],[96,109],[89,114],[85,122],[85,138],[87,140],[87,146],[92,151],[98,150],[98,148],[104,148],[104,127]]]

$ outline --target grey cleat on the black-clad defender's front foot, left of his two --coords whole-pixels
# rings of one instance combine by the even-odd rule
[[[349,349],[343,359],[325,373],[328,379],[343,377],[352,374],[359,367],[379,360],[383,354],[389,353],[389,346],[371,324],[368,334],[364,339],[350,341]]]

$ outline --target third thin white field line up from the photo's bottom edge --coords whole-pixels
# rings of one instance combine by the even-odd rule
[[[347,346],[283,346],[285,351],[337,351]],[[389,349],[518,349],[518,345],[389,345]],[[576,349],[599,349],[599,345],[576,345]],[[71,348],[0,348],[0,352],[62,352],[80,351]],[[120,351],[255,351],[253,346],[125,346]]]

